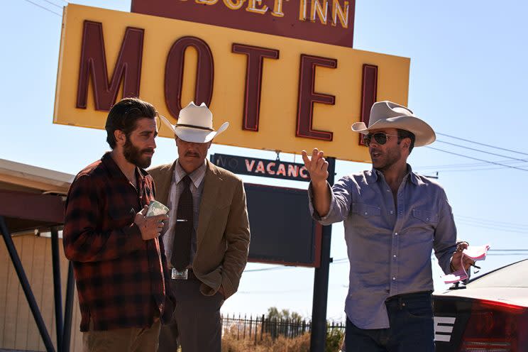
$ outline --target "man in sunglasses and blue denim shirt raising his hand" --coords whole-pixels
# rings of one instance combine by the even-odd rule
[[[467,243],[456,227],[444,189],[412,172],[414,145],[433,143],[433,129],[390,101],[375,103],[369,126],[354,123],[369,148],[372,170],[333,187],[328,163],[316,149],[302,158],[310,173],[310,210],[323,225],[343,221],[350,261],[346,351],[434,351],[431,251],[444,273],[466,270]]]

